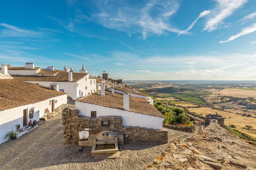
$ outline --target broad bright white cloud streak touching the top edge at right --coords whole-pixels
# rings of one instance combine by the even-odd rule
[[[202,31],[208,30],[211,32],[218,29],[220,24],[227,17],[231,16],[236,9],[241,8],[248,0],[215,0],[217,5],[212,10],[211,15],[205,24]]]

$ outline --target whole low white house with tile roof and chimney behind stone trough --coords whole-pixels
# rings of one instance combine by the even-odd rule
[[[102,87],[104,89],[104,85]],[[87,117],[121,116],[123,126],[162,129],[165,116],[144,98],[131,97],[130,92],[117,94],[101,90],[76,100],[79,115]]]

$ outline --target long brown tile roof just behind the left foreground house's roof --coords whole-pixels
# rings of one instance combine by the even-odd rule
[[[85,77],[88,73],[72,73],[72,82],[77,82],[78,80]],[[59,72],[55,76],[13,76],[14,79],[20,81],[54,81],[54,82],[70,82],[68,81],[68,72]]]

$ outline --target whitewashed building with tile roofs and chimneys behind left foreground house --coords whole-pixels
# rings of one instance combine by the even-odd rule
[[[96,91],[96,82],[91,83],[88,73],[67,72],[69,69],[65,66],[64,71],[54,70],[53,66],[46,69],[35,68],[34,63],[26,63],[25,67],[7,67],[8,73],[14,79],[27,81],[50,87],[51,84],[58,84],[59,90],[67,93],[72,99],[91,94]],[[0,71],[1,72],[1,71]]]

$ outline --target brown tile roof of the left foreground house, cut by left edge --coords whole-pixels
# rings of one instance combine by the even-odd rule
[[[1,79],[0,87],[0,111],[67,94],[62,91],[50,90],[45,86],[14,79]]]

